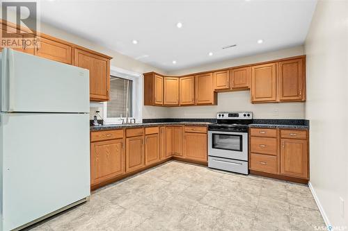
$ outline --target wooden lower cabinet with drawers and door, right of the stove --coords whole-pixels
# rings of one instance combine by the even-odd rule
[[[307,130],[251,128],[249,134],[250,170],[285,180],[309,180]]]

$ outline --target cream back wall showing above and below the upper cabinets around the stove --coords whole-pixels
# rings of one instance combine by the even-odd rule
[[[191,69],[171,72],[173,75],[190,74],[199,71],[209,71],[212,69],[221,69],[246,65],[255,62],[264,62],[287,58],[296,55],[303,55],[303,46],[296,46],[290,49],[283,49],[264,54],[258,54],[243,58],[236,58],[217,62],[210,65],[204,65]],[[218,93],[218,105],[216,106],[195,106],[169,108],[168,117],[170,118],[214,118],[216,112],[221,111],[252,111],[256,119],[303,119],[304,103],[258,103],[252,104],[250,91],[225,92]]]

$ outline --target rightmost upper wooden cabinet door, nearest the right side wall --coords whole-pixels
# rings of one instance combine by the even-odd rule
[[[303,99],[303,59],[279,62],[279,100],[299,101]]]

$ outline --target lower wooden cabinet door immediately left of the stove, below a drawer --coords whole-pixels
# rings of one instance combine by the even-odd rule
[[[184,157],[191,160],[207,161],[207,134],[184,133]]]

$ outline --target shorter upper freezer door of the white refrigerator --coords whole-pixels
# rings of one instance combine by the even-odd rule
[[[3,49],[0,93],[3,112],[89,112],[89,71]]]

